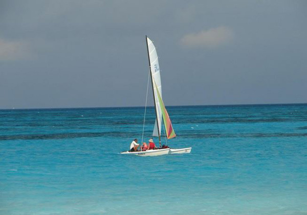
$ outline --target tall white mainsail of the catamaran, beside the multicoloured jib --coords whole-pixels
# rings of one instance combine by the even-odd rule
[[[162,97],[160,66],[159,66],[159,60],[158,60],[158,54],[156,51],[156,47],[153,45],[152,41],[148,37],[147,37],[147,44],[148,44],[148,56],[149,56],[151,77],[153,79],[152,83],[154,82],[156,83],[156,85],[153,86],[153,94],[155,96],[155,102],[156,102],[155,107],[157,111],[157,119],[155,122],[155,127],[153,128],[152,136],[159,137],[159,135],[161,135],[161,122],[162,122],[161,105],[160,105],[160,101],[158,99],[158,93],[157,93],[159,91],[160,96]],[[157,121],[159,124],[159,133],[158,133]]]

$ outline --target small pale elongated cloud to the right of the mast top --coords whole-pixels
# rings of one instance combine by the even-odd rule
[[[189,48],[215,48],[231,42],[233,38],[233,30],[221,26],[199,33],[187,34],[181,39],[181,44]]]

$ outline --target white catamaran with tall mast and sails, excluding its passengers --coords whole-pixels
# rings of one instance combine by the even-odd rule
[[[153,101],[155,103],[155,114],[156,114],[155,127],[153,128],[152,136],[159,137],[160,148],[139,151],[139,152],[124,151],[121,154],[130,154],[138,156],[159,156],[167,154],[190,153],[192,147],[177,148],[177,149],[169,147],[167,148],[161,147],[162,120],[165,128],[166,138],[167,139],[174,138],[176,137],[176,134],[173,130],[169,115],[162,100],[162,87],[161,87],[160,67],[159,67],[157,50],[155,45],[153,45],[153,42],[147,36],[146,36],[146,44],[147,44],[147,53],[149,60],[149,73],[150,73]]]

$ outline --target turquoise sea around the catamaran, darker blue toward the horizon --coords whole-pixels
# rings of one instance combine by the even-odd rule
[[[152,107],[0,110],[0,214],[307,214],[307,104],[167,109],[190,154],[120,154]]]

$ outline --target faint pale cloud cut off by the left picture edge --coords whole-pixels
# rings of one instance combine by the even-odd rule
[[[27,44],[21,41],[5,41],[0,38],[0,60],[16,60],[26,57]]]

